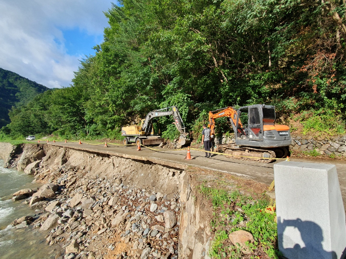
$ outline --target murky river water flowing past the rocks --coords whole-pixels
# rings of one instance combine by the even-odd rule
[[[13,202],[12,194],[23,188],[37,188],[33,176],[13,168],[3,168],[0,160],[0,259],[54,259],[56,247],[46,244],[45,235],[38,229],[17,229],[9,225],[35,211],[22,201]]]

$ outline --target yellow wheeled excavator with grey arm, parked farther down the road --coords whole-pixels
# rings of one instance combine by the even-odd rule
[[[135,142],[136,145],[157,145],[164,142],[161,138],[160,125],[155,119],[162,116],[173,116],[176,129],[180,132],[178,145],[184,146],[190,143],[188,139],[189,133],[185,132],[185,125],[183,119],[180,116],[178,108],[175,106],[163,108],[160,110],[154,110],[147,114],[145,119],[141,120],[140,126],[131,125],[121,128],[121,134],[125,136],[123,143],[129,145],[131,142]]]

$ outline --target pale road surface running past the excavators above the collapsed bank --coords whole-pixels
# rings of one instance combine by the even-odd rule
[[[241,161],[226,158],[224,155],[213,154],[211,158],[206,158],[203,150],[196,151],[191,150],[192,160],[185,160],[186,150],[174,150],[153,147],[156,150],[142,147],[141,151],[137,151],[135,146],[115,146],[109,144],[109,147],[104,147],[104,144],[89,145],[86,143],[78,144],[76,142],[63,143],[48,143],[48,145],[55,145],[59,147],[73,148],[77,150],[85,150],[89,152],[109,154],[120,156],[124,158],[130,158],[141,161],[151,161],[153,163],[172,166],[176,168],[187,168],[188,166],[194,166],[204,168],[208,170],[215,170],[224,173],[234,174],[240,177],[251,179],[266,185],[270,185],[274,180],[273,166],[282,160],[276,161],[270,164],[262,164],[250,161]],[[344,207],[346,208],[346,162],[345,161],[324,161],[324,160],[308,160],[290,158],[290,161],[295,162],[307,162],[307,163],[324,163],[333,164],[337,168],[341,194],[344,201]]]

